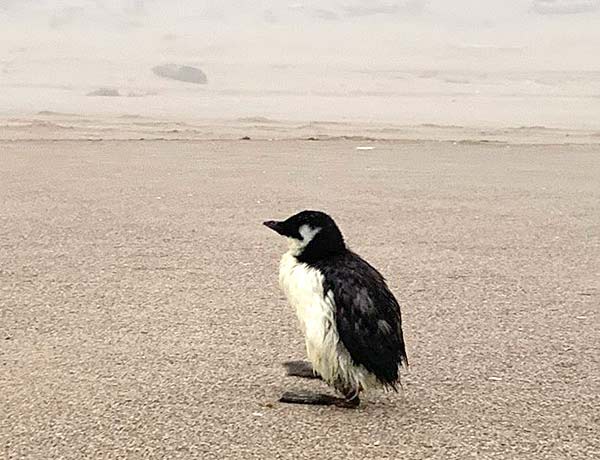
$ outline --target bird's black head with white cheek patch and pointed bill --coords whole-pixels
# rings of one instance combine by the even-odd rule
[[[290,250],[300,261],[319,260],[346,248],[338,226],[321,211],[302,211],[283,221],[269,220],[264,225],[286,236]]]

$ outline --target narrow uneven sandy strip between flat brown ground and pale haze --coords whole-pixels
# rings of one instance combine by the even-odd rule
[[[357,142],[449,142],[498,145],[595,145],[600,130],[546,126],[415,125],[355,121],[292,121],[266,117],[233,119],[155,118],[40,111],[1,116],[0,141],[297,140]]]

